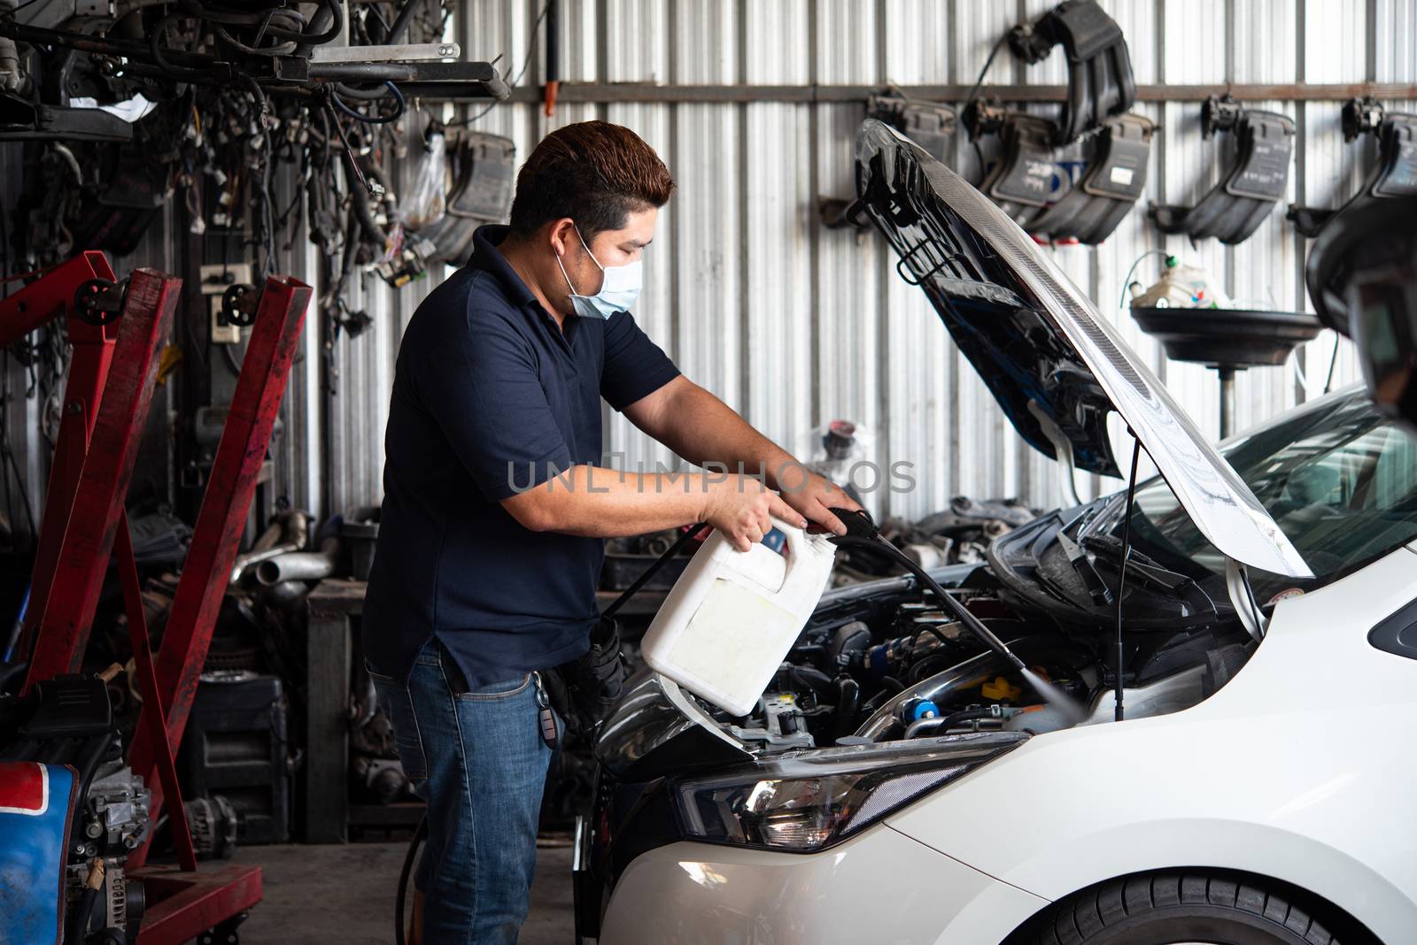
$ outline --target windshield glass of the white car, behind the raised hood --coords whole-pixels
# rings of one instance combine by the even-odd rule
[[[1379,416],[1362,389],[1292,410],[1221,453],[1315,574],[1297,581],[1255,573],[1261,601],[1338,580],[1417,539],[1417,440]],[[1087,531],[1119,536],[1124,501]],[[1132,543],[1196,579],[1224,573],[1224,556],[1159,477],[1136,487]]]

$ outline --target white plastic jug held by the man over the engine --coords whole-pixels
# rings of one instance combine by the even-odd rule
[[[836,546],[778,519],[784,553],[740,552],[714,532],[679,576],[642,642],[645,662],[735,716],[752,712],[832,576]]]

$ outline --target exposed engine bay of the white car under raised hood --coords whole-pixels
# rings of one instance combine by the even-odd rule
[[[942,569],[937,579],[1033,672],[1081,705],[1083,720],[1044,703],[1015,663],[979,642],[913,577],[828,591],[747,717],[696,702],[754,754],[990,730],[1044,734],[1114,719],[1110,625],[1063,624],[1020,605],[985,564]],[[1125,717],[1200,703],[1254,647],[1234,618],[1129,630]]]

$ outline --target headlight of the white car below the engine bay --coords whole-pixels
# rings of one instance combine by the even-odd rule
[[[1024,741],[982,733],[802,751],[676,785],[691,840],[808,853],[832,846]]]

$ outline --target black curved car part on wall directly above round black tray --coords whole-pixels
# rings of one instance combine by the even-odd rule
[[[1192,239],[1214,236],[1243,243],[1284,197],[1294,153],[1294,120],[1277,112],[1241,108],[1229,95],[1212,96],[1200,109],[1204,137],[1233,132],[1238,154],[1234,166],[1195,207],[1152,204],[1148,215],[1163,233]]]

